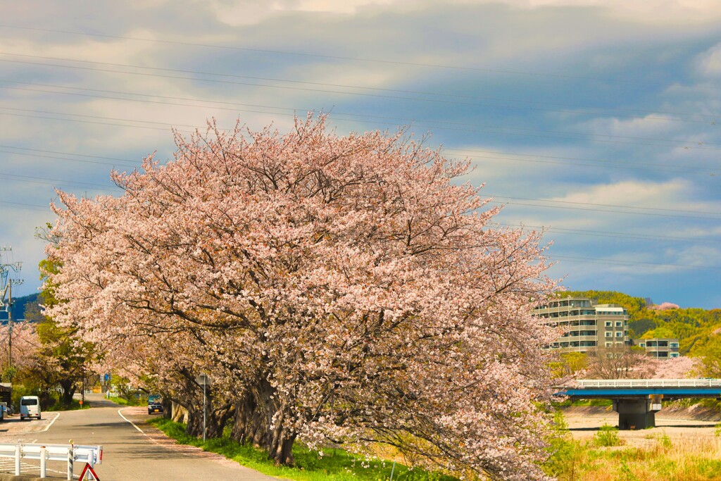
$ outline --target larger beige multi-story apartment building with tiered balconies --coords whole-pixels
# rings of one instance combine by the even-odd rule
[[[596,304],[588,297],[565,297],[533,310],[562,334],[548,347],[559,353],[592,353],[631,345],[629,315],[616,304]]]

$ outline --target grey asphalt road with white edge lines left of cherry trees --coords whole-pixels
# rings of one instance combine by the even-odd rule
[[[68,444],[72,440],[74,444],[101,444],[102,464],[95,471],[102,481],[277,481],[222,456],[174,444],[146,423],[149,416],[145,407],[123,408],[102,399],[100,394],[86,399],[92,409],[43,412],[40,421],[6,419],[0,423],[0,442]],[[66,472],[59,463],[48,463],[48,468],[50,476]],[[76,477],[81,469],[81,464],[76,463]],[[0,463],[0,471],[11,470],[12,462]],[[24,464],[22,472],[32,473],[32,465]]]

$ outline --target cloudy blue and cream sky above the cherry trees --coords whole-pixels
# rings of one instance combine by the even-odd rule
[[[32,0],[0,19],[0,251],[37,292],[55,189],[172,158],[216,118],[406,127],[545,229],[548,275],[721,308],[717,0]]]

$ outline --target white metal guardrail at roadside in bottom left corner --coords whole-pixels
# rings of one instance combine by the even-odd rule
[[[102,462],[102,446],[79,444],[0,444],[0,458],[15,460],[15,475],[20,475],[21,459],[39,459],[40,477],[46,477],[46,463],[60,461],[68,464],[68,480],[73,479],[73,463],[87,463],[91,467]]]

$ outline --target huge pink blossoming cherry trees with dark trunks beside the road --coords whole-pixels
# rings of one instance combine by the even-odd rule
[[[176,135],[167,164],[113,172],[120,197],[58,192],[48,257],[61,304],[107,361],[188,408],[200,433],[292,464],[301,440],[396,448],[415,464],[493,479],[539,462],[554,336],[529,314],[554,287],[539,234],[403,133]]]

